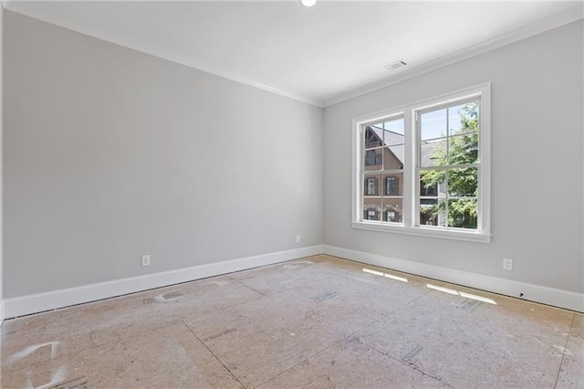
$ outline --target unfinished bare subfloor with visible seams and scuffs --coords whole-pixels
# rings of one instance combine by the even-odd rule
[[[328,256],[1,334],[2,388],[584,388],[583,314]]]

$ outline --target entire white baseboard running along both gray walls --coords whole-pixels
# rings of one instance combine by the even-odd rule
[[[45,310],[55,310],[95,300],[108,299],[142,290],[161,288],[181,282],[219,276],[234,271],[272,265],[287,260],[318,254],[347,258],[381,268],[391,268],[406,273],[441,279],[470,288],[483,289],[506,296],[540,302],[568,310],[584,312],[584,294],[564,289],[548,288],[510,279],[499,279],[452,268],[423,264],[398,258],[383,257],[348,248],[317,245],[260,256],[238,258],[224,262],[181,268],[130,279],[117,279],[86,286],[58,289],[45,293],[0,300],[0,324],[4,319],[28,315]]]

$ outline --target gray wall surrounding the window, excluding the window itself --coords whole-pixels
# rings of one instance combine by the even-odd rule
[[[583,292],[582,32],[562,26],[325,109],[325,244]],[[351,118],[486,81],[492,243],[351,229]]]

